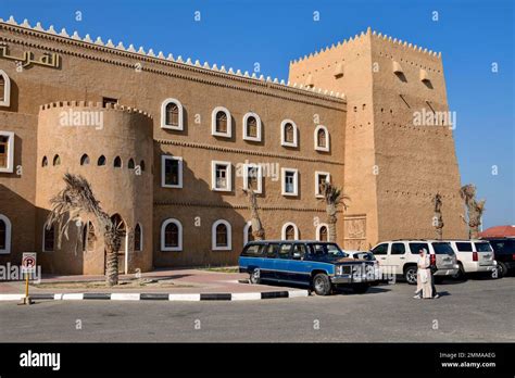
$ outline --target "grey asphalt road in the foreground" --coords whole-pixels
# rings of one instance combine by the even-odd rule
[[[5,341],[515,341],[515,277],[249,302],[0,304]],[[81,329],[76,329],[78,320]],[[200,329],[198,329],[200,328]]]

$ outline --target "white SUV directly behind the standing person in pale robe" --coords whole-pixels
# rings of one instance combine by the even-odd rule
[[[379,262],[382,276],[402,276],[410,285],[416,284],[417,260],[420,249],[429,253],[436,267],[435,279],[451,277],[457,272],[456,255],[449,242],[441,240],[390,240],[378,243],[372,253]]]

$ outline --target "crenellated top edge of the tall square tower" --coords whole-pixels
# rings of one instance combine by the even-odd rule
[[[427,48],[423,48],[420,46],[413,45],[411,42],[403,41],[401,39],[392,38],[391,36],[388,36],[386,34],[381,34],[381,33],[378,33],[376,30],[372,30],[372,28],[368,27],[366,29],[366,32],[362,32],[361,34],[356,34],[354,37],[350,37],[349,39],[338,41],[336,45],[332,43],[330,46],[326,46],[325,48],[322,48],[318,51],[312,52],[307,55],[304,55],[304,56],[301,56],[301,58],[296,59],[293,61],[290,61],[290,65],[299,64],[299,63],[302,63],[306,60],[313,59],[315,56],[328,54],[328,53],[337,51],[339,49],[344,49],[344,48],[348,48],[352,45],[363,42],[366,37],[372,37],[372,38],[375,38],[376,40],[384,40],[384,41],[391,42],[392,45],[402,46],[406,50],[422,52],[424,54],[427,54],[428,56],[441,58],[441,52],[436,52],[436,51],[432,51],[432,50],[428,50]]]

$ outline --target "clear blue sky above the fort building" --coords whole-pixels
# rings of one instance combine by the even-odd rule
[[[80,11],[83,20],[75,20]],[[201,21],[194,21],[199,11]],[[319,21],[313,21],[313,12]],[[431,20],[432,11],[439,21]],[[14,15],[104,41],[143,46],[265,76],[288,77],[290,60],[367,26],[442,51],[449,103],[457,112],[462,184],[487,199],[485,226],[515,224],[514,4],[512,0],[0,0]],[[492,62],[499,65],[491,72]],[[492,175],[492,166],[499,173]]]

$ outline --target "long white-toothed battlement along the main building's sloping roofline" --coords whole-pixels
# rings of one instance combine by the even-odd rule
[[[251,84],[266,85],[267,87],[273,89],[288,90],[297,94],[314,96],[339,102],[344,102],[346,100],[344,93],[340,93],[337,91],[331,91],[323,88],[306,87],[302,84],[286,81],[285,79],[278,79],[277,77],[272,78],[271,76],[265,77],[264,75],[258,76],[255,73],[250,74],[248,71],[241,72],[241,70],[235,71],[233,67],[229,67],[227,70],[225,65],[221,65],[218,67],[216,63],[210,65],[210,63],[204,62],[202,64],[199,60],[196,60],[193,62],[191,58],[187,58],[185,60],[181,55],[174,58],[172,53],[168,53],[167,55],[165,55],[162,51],[155,53],[153,49],[149,49],[148,51],[146,51],[142,46],[139,47],[139,49],[136,49],[134,45],[130,43],[128,48],[126,48],[122,41],[120,41],[117,45],[114,45],[111,39],[108,39],[108,41],[104,42],[101,37],[97,37],[93,40],[89,34],[86,34],[86,36],[81,38],[77,32],[74,32],[72,35],[70,35],[65,28],[62,28],[61,32],[58,33],[53,25],[50,25],[48,29],[45,29],[41,26],[41,23],[38,22],[36,23],[36,26],[32,26],[26,18],[23,21],[23,23],[18,24],[12,15],[7,21],[0,18],[0,25],[1,24],[23,28],[32,33],[41,33],[56,38],[63,38],[67,42],[80,42],[84,46],[102,48],[106,51],[116,51],[117,53],[124,52],[131,55],[145,56],[146,59],[151,59],[155,63],[174,64],[180,67],[194,68],[208,74],[216,74],[217,76],[223,75],[225,78],[229,79],[247,79]]]

